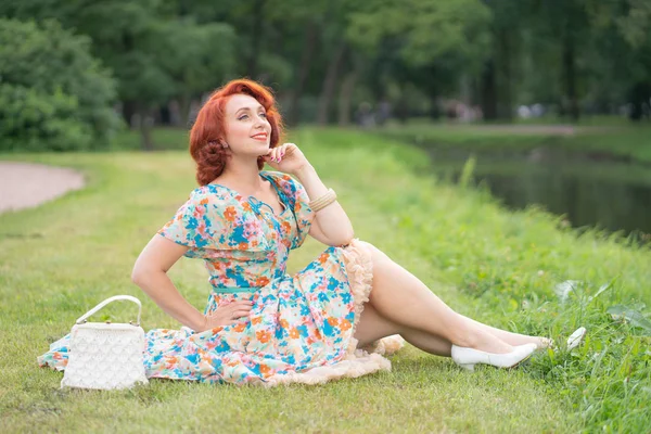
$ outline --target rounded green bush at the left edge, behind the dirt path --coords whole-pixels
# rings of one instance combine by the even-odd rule
[[[89,49],[55,21],[0,20],[0,152],[108,144],[116,85]]]

